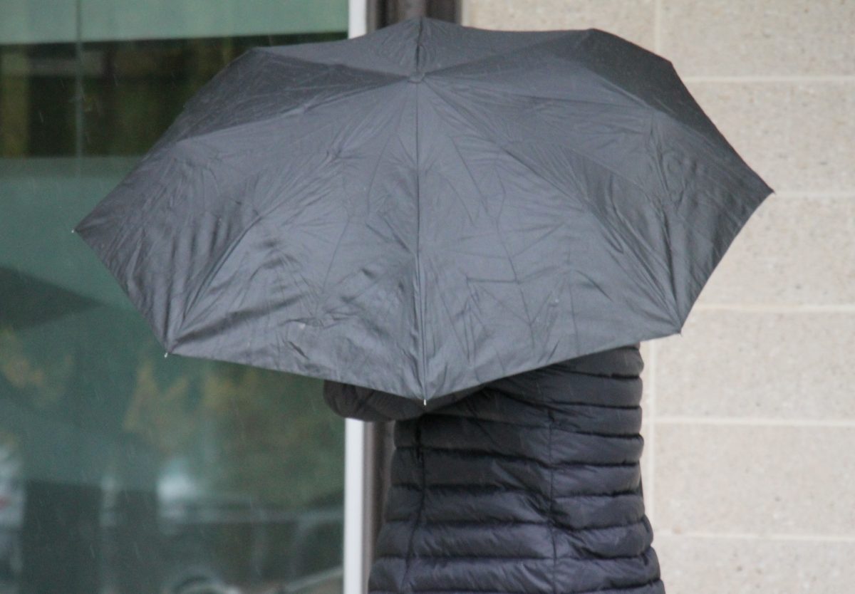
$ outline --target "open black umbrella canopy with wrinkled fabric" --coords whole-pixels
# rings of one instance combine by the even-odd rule
[[[638,45],[418,17],[239,56],[75,230],[169,352],[427,401],[680,332],[771,192]]]

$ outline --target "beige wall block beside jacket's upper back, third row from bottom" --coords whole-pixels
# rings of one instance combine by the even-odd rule
[[[695,309],[656,343],[657,416],[855,422],[855,312]]]

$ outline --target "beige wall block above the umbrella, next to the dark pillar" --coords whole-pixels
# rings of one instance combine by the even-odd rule
[[[544,30],[596,27],[653,50],[653,0],[463,0],[463,25]]]

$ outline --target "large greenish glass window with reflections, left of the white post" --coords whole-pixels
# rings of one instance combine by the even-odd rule
[[[0,594],[341,591],[321,380],[164,358],[71,229],[228,62],[346,31],[346,0],[3,1]]]

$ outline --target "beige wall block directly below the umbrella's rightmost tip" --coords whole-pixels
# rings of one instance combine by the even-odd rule
[[[855,304],[855,192],[769,197],[697,303]]]

